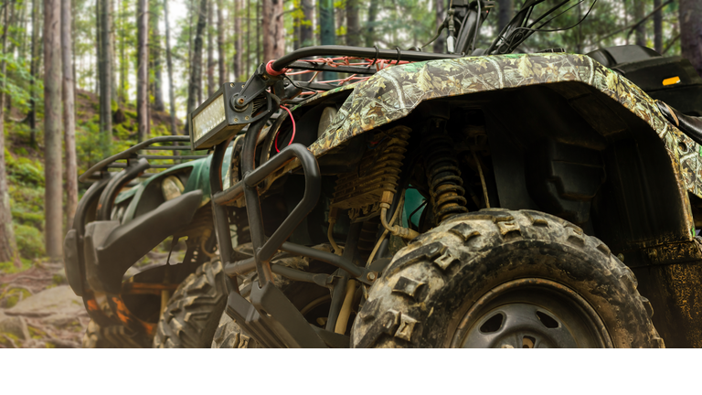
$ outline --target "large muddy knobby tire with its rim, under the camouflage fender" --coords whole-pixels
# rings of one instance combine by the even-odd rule
[[[488,208],[400,250],[370,288],[351,344],[663,347],[636,285],[601,240],[568,221]]]

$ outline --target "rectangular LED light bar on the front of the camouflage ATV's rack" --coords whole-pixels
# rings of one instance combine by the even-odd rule
[[[243,86],[242,82],[227,82],[187,115],[193,150],[211,148],[239,133],[251,122],[253,112],[261,106],[249,105],[235,111],[231,105],[231,98],[239,94]]]

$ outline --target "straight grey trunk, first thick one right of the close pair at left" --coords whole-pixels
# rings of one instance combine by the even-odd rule
[[[60,1],[60,0],[59,0]],[[109,154],[112,140],[112,39],[110,39],[111,0],[100,0],[100,125],[102,153]]]

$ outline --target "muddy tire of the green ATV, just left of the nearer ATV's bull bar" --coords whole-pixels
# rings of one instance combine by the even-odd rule
[[[206,262],[186,277],[158,320],[155,348],[207,348],[227,303],[222,263]]]

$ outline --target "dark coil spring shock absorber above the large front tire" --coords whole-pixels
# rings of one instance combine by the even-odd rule
[[[437,225],[455,214],[468,211],[463,197],[465,189],[461,170],[453,157],[453,141],[445,132],[445,123],[444,119],[432,118],[428,133],[425,133],[423,139],[424,168],[429,180],[434,222]]]

